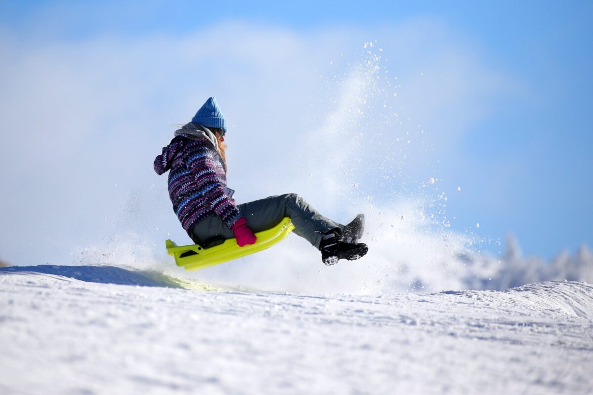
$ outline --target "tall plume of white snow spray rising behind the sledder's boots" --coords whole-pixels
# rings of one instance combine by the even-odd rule
[[[467,288],[468,279],[494,270],[468,264],[476,255],[469,246],[482,240],[451,232],[439,180],[408,171],[426,168],[429,131],[407,116],[397,93],[401,85],[389,75],[382,49],[368,42],[362,50],[345,71],[319,79],[294,155],[299,165],[282,173],[331,219],[347,223],[365,213],[368,255],[326,267],[307,242],[289,237],[200,278],[269,291],[380,294]]]

